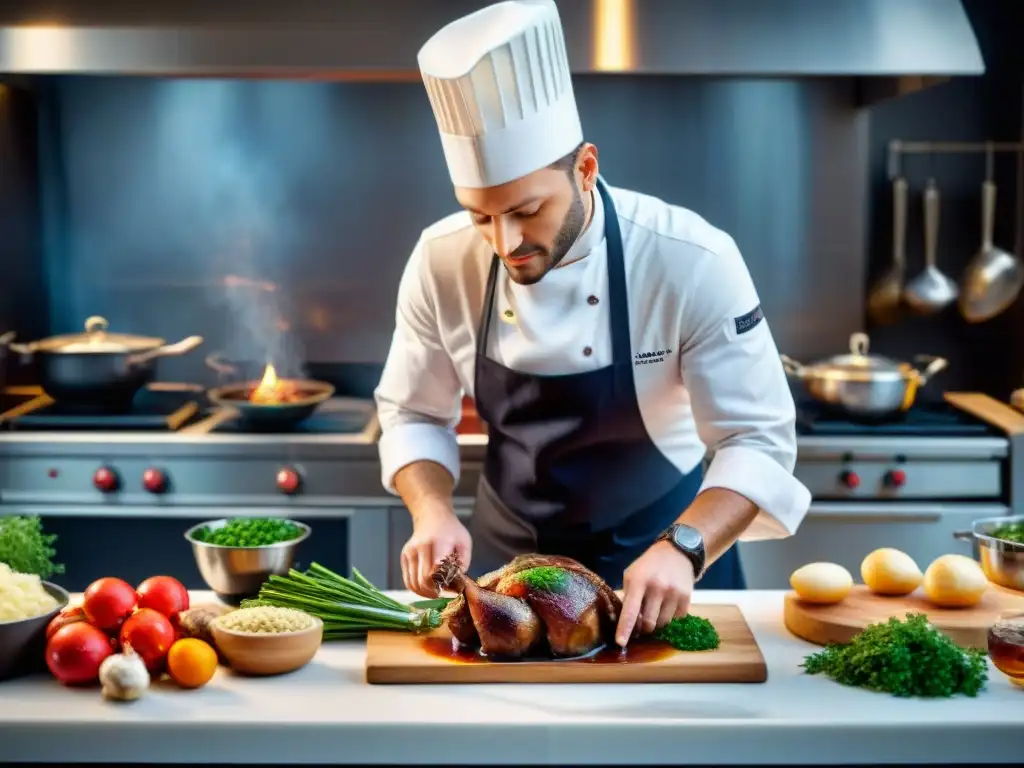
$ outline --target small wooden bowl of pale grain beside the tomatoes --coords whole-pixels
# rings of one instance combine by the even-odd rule
[[[243,675],[283,675],[305,667],[324,641],[324,622],[295,608],[258,605],[210,622],[217,649]]]

